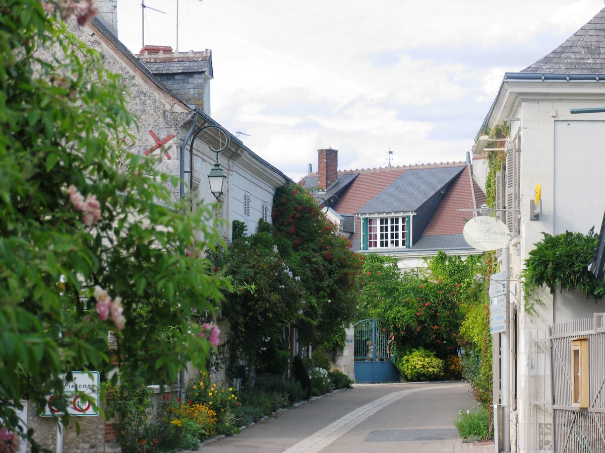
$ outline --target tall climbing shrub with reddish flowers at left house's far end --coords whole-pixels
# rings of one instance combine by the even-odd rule
[[[284,261],[304,288],[301,341],[342,347],[344,329],[357,317],[361,256],[301,185],[276,190],[272,217]]]

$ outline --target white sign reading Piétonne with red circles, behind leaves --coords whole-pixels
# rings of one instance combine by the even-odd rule
[[[73,371],[72,379],[67,380],[67,373],[59,374],[64,381],[64,391],[67,397],[67,413],[71,416],[98,416],[99,415],[99,371]],[[83,397],[86,395],[87,397]],[[42,417],[63,415],[64,412],[53,404],[55,395],[48,397]],[[95,402],[91,403],[91,399]]]

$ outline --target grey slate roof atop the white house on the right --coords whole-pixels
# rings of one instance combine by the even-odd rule
[[[598,74],[605,71],[605,8],[547,56],[521,72]]]

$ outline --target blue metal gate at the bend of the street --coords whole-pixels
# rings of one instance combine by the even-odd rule
[[[355,323],[355,382],[398,382],[393,341],[378,320]]]

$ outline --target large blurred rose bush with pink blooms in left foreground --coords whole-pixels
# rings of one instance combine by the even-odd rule
[[[122,372],[145,382],[203,367],[190,321],[227,282],[200,253],[220,240],[212,211],[173,202],[177,179],[129,152],[122,79],[41,2],[0,10],[0,419],[15,429],[22,397],[43,407],[62,400],[60,373],[114,366],[110,331]],[[106,321],[96,289],[114,302]]]

